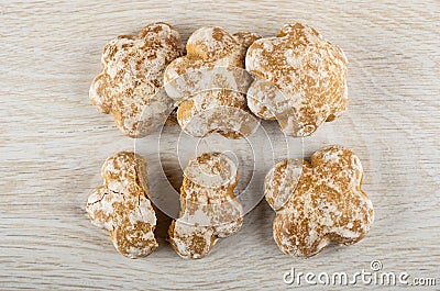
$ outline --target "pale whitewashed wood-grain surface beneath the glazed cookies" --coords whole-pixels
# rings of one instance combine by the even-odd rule
[[[0,4],[1,290],[277,290],[292,267],[354,272],[373,259],[384,271],[436,277],[440,288],[438,1],[90,2]],[[145,259],[114,250],[85,202],[106,157],[132,149],[133,139],[90,105],[88,87],[106,42],[154,21],[175,24],[185,38],[204,25],[270,36],[302,21],[345,51],[349,111],[307,138],[305,150],[337,143],[358,153],[376,210],[365,239],[290,258],[272,238],[274,213],[263,201],[201,260],[180,259],[162,238]]]

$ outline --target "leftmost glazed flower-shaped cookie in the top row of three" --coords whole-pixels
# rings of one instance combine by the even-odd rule
[[[152,23],[138,35],[122,35],[106,45],[102,72],[90,86],[90,100],[112,114],[118,127],[142,137],[163,125],[174,101],[163,87],[166,66],[179,56],[180,35],[166,23]]]

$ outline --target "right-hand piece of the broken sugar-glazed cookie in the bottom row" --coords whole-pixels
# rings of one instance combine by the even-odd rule
[[[220,153],[189,161],[180,188],[180,215],[168,230],[169,242],[183,258],[202,258],[219,237],[235,234],[243,223],[243,209],[233,189],[234,163]]]

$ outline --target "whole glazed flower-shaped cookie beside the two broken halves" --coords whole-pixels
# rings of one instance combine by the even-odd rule
[[[362,239],[374,220],[361,190],[361,161],[341,146],[316,152],[308,161],[285,159],[265,179],[265,197],[276,211],[273,232],[279,249],[314,256],[327,245]]]

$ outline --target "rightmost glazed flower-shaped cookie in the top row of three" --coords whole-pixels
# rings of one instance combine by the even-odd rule
[[[345,55],[310,26],[286,24],[276,37],[255,41],[245,64],[255,76],[249,108],[289,136],[310,135],[346,108]]]

